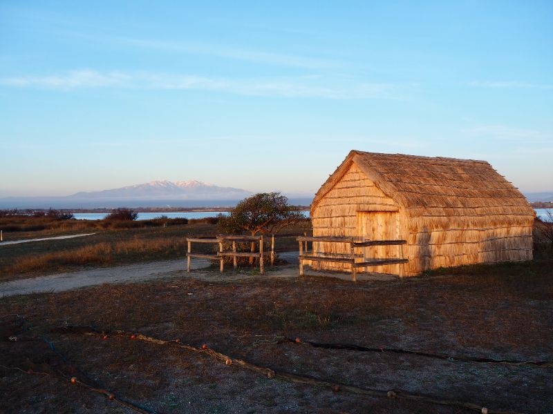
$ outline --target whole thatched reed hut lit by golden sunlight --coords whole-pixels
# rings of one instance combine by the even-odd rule
[[[361,271],[413,276],[442,266],[532,259],[534,210],[486,161],[353,150],[315,195],[311,218],[315,237],[406,240],[359,254],[362,262],[403,256],[409,263]],[[323,255],[346,248],[314,244]]]

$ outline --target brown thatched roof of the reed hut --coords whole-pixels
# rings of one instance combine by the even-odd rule
[[[357,150],[319,189],[312,209],[352,163],[411,217],[534,215],[521,192],[486,161]]]

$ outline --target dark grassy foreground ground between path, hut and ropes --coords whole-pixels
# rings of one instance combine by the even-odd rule
[[[330,382],[547,413],[553,368],[312,348],[281,337],[497,359],[553,360],[553,259],[467,266],[393,282],[259,277],[99,286],[0,299],[0,364],[43,362],[163,413],[465,413],[423,402],[269,380],[178,348],[52,331],[66,324],[180,338]],[[202,270],[209,272],[209,270]],[[18,341],[6,338],[17,336]],[[67,362],[51,351],[63,353]],[[57,361],[57,362],[56,362]],[[56,365],[57,364],[57,365]],[[0,368],[0,412],[127,412],[52,377]]]

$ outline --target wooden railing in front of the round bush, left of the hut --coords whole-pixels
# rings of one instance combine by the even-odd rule
[[[271,250],[270,261],[271,266],[274,264],[274,235],[270,236]],[[223,250],[223,243],[232,242],[232,250]],[[251,243],[252,250],[254,250],[254,244],[259,242],[259,253],[256,252],[238,252],[236,251],[236,243]],[[212,243],[218,244],[219,250],[214,254],[207,253],[192,253],[192,243]],[[238,267],[238,257],[250,257],[252,259],[259,258],[259,273],[263,275],[265,270],[263,266],[263,236],[246,236],[246,235],[218,235],[216,237],[188,237],[188,252],[187,252],[187,271],[190,271],[190,259],[196,257],[198,259],[218,260],[220,264],[221,273],[225,267],[225,256],[232,257],[232,264],[234,269]]]

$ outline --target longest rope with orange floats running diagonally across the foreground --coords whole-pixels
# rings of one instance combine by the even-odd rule
[[[319,378],[310,377],[308,375],[297,375],[297,374],[288,373],[285,371],[273,370],[268,367],[251,364],[250,362],[244,361],[243,359],[229,357],[228,355],[219,353],[213,350],[212,348],[209,348],[205,344],[201,348],[196,348],[196,346],[182,344],[180,342],[180,339],[173,339],[168,341],[165,339],[158,339],[156,337],[142,335],[140,333],[131,333],[131,332],[120,331],[120,330],[101,331],[97,328],[93,328],[92,326],[63,326],[61,328],[55,329],[55,332],[67,333],[67,334],[81,333],[82,335],[100,336],[103,339],[108,339],[110,335],[113,335],[118,337],[128,337],[129,339],[138,339],[144,342],[150,342],[152,344],[165,345],[165,346],[177,346],[179,348],[184,348],[187,351],[192,351],[194,353],[203,353],[205,355],[213,357],[214,359],[221,360],[225,362],[227,366],[238,366],[240,368],[244,368],[249,371],[261,373],[263,375],[266,375],[269,378],[281,378],[282,380],[296,382],[299,384],[308,384],[313,386],[321,386],[324,388],[331,388],[335,392],[347,391],[349,393],[353,393],[357,395],[370,395],[371,397],[388,397],[388,398],[397,398],[402,400],[424,402],[429,404],[438,404],[442,406],[456,406],[459,408],[467,408],[468,410],[471,410],[471,411],[477,411],[482,414],[521,414],[521,413],[516,413],[514,411],[490,410],[489,408],[482,407],[478,404],[474,404],[471,402],[462,402],[462,401],[455,401],[455,400],[440,400],[437,398],[429,397],[427,395],[407,393],[406,391],[402,391],[402,390],[385,391],[385,390],[378,390],[374,388],[362,388],[359,386],[353,386],[349,384],[340,384],[336,382],[330,382],[327,380],[321,380]]]

